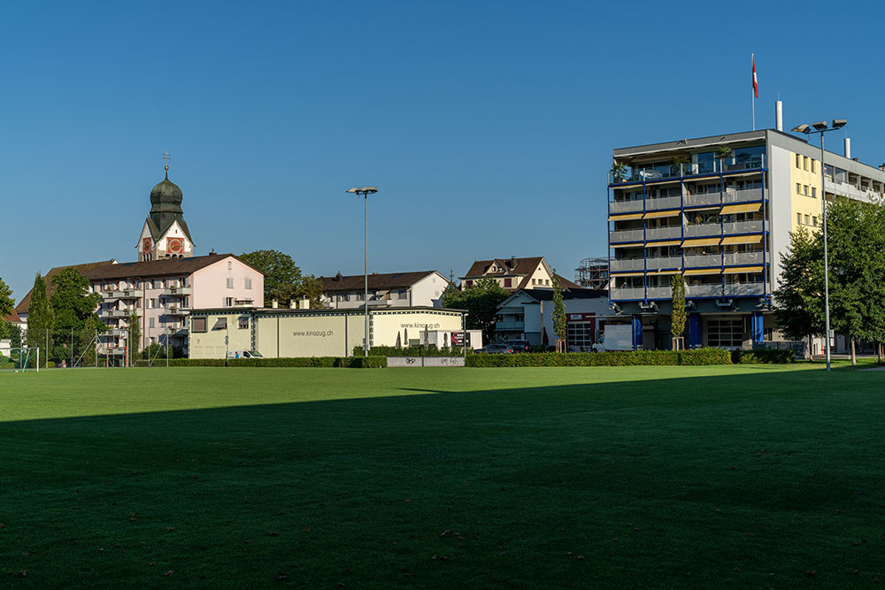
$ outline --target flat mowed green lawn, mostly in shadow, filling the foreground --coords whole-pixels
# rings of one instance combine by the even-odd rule
[[[0,586],[885,586],[885,372],[0,373]]]

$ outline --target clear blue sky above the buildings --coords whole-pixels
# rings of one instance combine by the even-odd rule
[[[788,128],[844,117],[885,161],[883,9],[861,6],[7,2],[0,277],[18,300],[133,260],[168,149],[197,254],[361,273],[344,190],[377,185],[370,271],[543,255],[571,278],[605,254],[612,148],[750,129],[751,52],[758,127],[780,93]]]

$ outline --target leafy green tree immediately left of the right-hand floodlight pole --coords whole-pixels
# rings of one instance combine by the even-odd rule
[[[824,333],[824,264],[820,234],[804,227],[789,234],[789,248],[781,252],[781,280],[774,290],[774,320],[789,340],[808,339]]]

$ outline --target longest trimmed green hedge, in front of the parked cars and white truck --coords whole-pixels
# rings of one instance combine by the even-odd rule
[[[618,352],[544,352],[515,355],[474,355],[468,367],[591,367],[651,365],[731,364],[731,354],[722,349],[636,350]]]

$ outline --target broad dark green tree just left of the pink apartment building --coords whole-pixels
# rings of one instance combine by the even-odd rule
[[[97,326],[104,327],[96,315],[102,295],[89,293],[89,280],[73,268],[68,267],[52,277],[55,289],[50,297],[52,312],[55,315],[57,344],[52,357],[69,359],[72,364],[84,349]],[[91,320],[91,321],[89,321]],[[89,339],[84,328],[89,321]],[[73,350],[70,347],[73,346]]]

